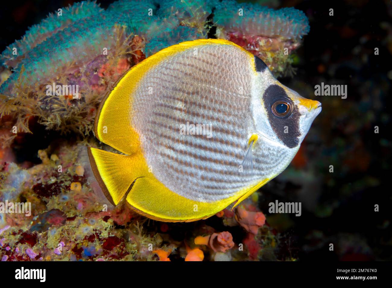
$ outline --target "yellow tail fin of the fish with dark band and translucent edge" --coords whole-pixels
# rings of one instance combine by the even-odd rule
[[[83,147],[81,154],[83,167],[90,176],[94,191],[100,199],[105,197],[112,205],[121,201],[134,179],[146,169],[140,154],[127,156],[90,147]],[[94,185],[94,180],[99,186]]]

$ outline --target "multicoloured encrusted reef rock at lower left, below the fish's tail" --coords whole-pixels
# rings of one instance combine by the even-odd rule
[[[154,253],[143,253],[142,247],[157,247],[158,234],[143,233],[146,220],[126,206],[108,211],[95,203],[80,166],[74,165],[77,152],[71,146],[50,157],[47,151],[39,153],[42,164],[27,170],[2,166],[0,201],[31,203],[32,208],[30,216],[1,214],[2,259],[153,259]],[[16,188],[11,190],[10,183]]]

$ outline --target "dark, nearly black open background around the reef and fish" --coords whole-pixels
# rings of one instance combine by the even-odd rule
[[[48,13],[73,2],[2,2],[0,50]],[[106,8],[113,1],[98,2]],[[260,207],[266,214],[268,203],[276,199],[302,203],[301,217],[267,217],[283,235],[278,259],[290,255],[302,261],[392,260],[392,4],[293,0],[267,5],[294,6],[307,14],[310,33],[292,56],[296,74],[279,80],[323,105],[294,161],[261,189]],[[334,16],[329,16],[330,8]],[[379,55],[374,55],[375,47]],[[314,86],[321,82],[347,85],[347,99],[314,96]],[[379,134],[374,133],[375,126]],[[46,148],[53,137],[45,135],[30,146],[31,151]],[[25,150],[19,159],[29,154],[33,155]],[[374,212],[375,204],[379,212]],[[329,243],[334,243],[333,252]]]

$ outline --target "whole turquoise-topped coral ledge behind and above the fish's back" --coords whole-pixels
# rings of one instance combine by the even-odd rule
[[[278,76],[290,64],[279,51],[296,49],[309,23],[293,8],[274,11],[233,0],[120,0],[107,9],[75,3],[31,27],[0,55],[0,79],[7,78],[0,82],[0,117],[13,115],[25,132],[33,115],[47,129],[88,134],[94,109],[126,69],[163,47],[207,38],[211,31],[261,57]],[[279,51],[271,53],[271,42]],[[80,98],[47,96],[45,87],[53,82],[79,85]]]

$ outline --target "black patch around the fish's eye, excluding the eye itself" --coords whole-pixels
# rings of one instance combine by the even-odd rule
[[[299,112],[297,109],[287,118],[279,118],[272,112],[272,107],[276,101],[288,98],[285,89],[279,85],[270,85],[263,94],[264,106],[267,109],[269,123],[276,136],[289,148],[294,148],[299,143]],[[285,133],[286,132],[286,133]]]

